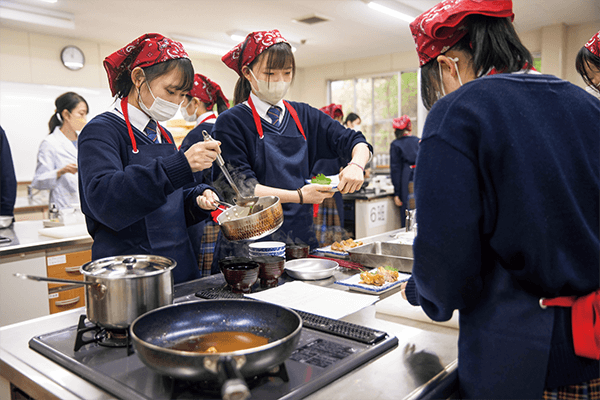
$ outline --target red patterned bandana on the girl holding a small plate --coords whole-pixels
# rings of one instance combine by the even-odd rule
[[[252,32],[246,36],[246,40],[231,49],[221,60],[225,65],[237,72],[239,76],[242,76],[242,67],[252,63],[260,53],[277,43],[288,43],[277,29]],[[244,44],[246,44],[244,54],[240,54]],[[240,59],[241,65],[239,63]]]

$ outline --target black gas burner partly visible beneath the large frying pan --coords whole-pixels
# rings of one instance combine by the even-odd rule
[[[165,385],[171,387],[171,400],[188,399],[188,398],[221,398],[221,388],[215,382],[208,381],[185,381],[181,379],[173,379],[169,377],[163,378]],[[268,382],[285,383],[289,382],[290,378],[287,373],[285,364],[279,364],[270,370],[246,379],[248,388],[252,390],[255,387],[264,385]],[[198,397],[198,396],[202,397]]]

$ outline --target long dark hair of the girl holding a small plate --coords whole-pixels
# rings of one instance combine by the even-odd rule
[[[244,50],[246,49],[247,43],[248,39],[246,39],[246,41],[242,45],[242,48],[240,49],[240,54],[244,54]],[[290,46],[288,43],[281,42],[274,44],[273,46],[263,51],[250,64],[248,64],[248,67],[252,69],[256,62],[262,57],[267,57],[267,69],[284,69],[289,67],[291,64],[292,81],[296,77],[296,60],[294,59],[292,46]],[[241,70],[242,57],[238,59],[238,71]],[[250,85],[250,81],[246,79],[243,75],[240,76],[235,84],[235,89],[233,92],[233,105],[240,104],[248,100],[250,92],[252,92],[252,86]]]

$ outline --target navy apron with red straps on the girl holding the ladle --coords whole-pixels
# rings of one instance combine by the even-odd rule
[[[127,131],[131,138],[132,151],[129,154],[128,165],[148,165],[157,157],[166,157],[176,151],[169,135],[158,123],[163,138],[168,142],[164,144],[151,144],[137,146],[137,141],[129,122],[127,111],[127,97],[121,100],[123,117],[127,123]],[[177,261],[177,267],[173,269],[175,283],[181,283],[200,278],[200,271],[194,257],[192,244],[190,243],[187,230],[185,213],[183,209],[183,189],[179,188],[167,197],[167,202],[157,210],[146,215],[146,234],[150,242],[150,250],[153,255],[170,257]]]

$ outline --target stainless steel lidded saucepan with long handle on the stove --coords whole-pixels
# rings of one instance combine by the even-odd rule
[[[126,329],[147,311],[173,303],[177,263],[167,257],[107,257],[81,266],[83,281],[15,274],[22,279],[85,285],[88,319],[104,328]]]

